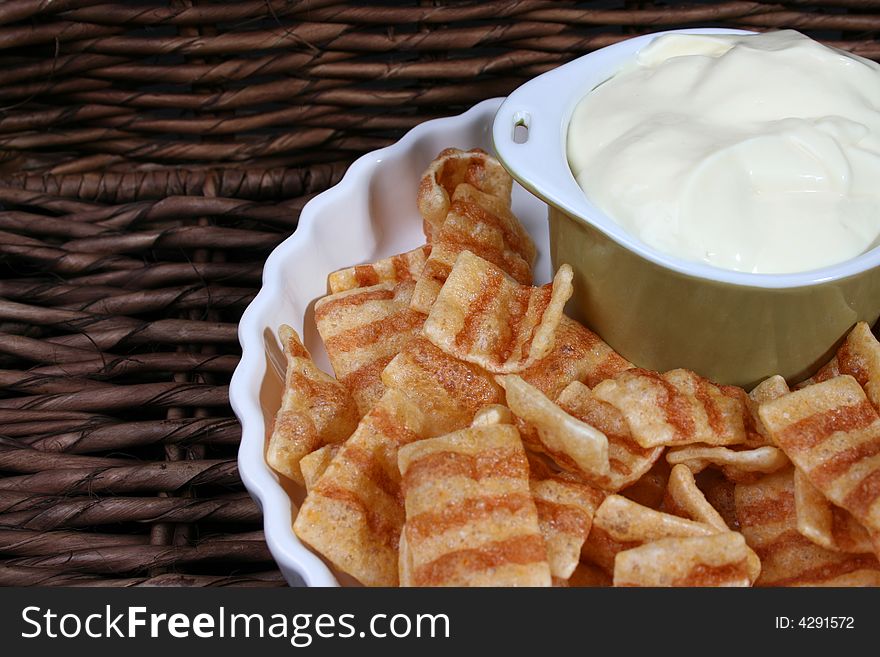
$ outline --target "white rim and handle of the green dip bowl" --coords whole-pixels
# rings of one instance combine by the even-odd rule
[[[757,32],[728,28],[652,32],[600,48],[524,83],[501,104],[492,126],[498,158],[517,182],[549,206],[595,228],[642,259],[691,278],[740,287],[792,289],[860,276],[880,265],[878,246],[843,262],[802,272],[755,274],[722,269],[669,255],[647,245],[589,201],[572,175],[566,154],[568,124],[574,108],[596,84],[608,79],[623,61],[665,34]],[[529,137],[525,143],[514,141],[513,126],[516,124],[528,127]]]

